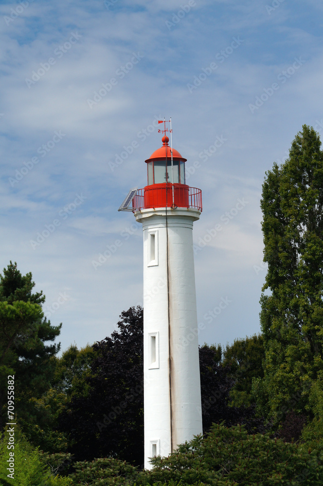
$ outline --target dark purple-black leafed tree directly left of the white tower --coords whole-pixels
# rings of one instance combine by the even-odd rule
[[[118,331],[93,345],[97,354],[80,389],[60,416],[77,460],[118,457],[137,465],[144,458],[143,309],[121,313]]]

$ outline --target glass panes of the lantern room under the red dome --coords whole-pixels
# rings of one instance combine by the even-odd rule
[[[172,161],[153,160],[147,163],[148,186],[152,184],[162,184],[172,182]],[[185,162],[183,160],[173,160],[174,184],[185,184]]]

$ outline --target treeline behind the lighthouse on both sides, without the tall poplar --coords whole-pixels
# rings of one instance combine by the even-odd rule
[[[50,454],[70,452],[78,461],[110,456],[141,466],[143,309],[122,312],[118,330],[103,341],[81,349],[70,346],[57,357],[59,345],[45,343],[59,335],[61,325],[53,327],[42,317],[45,297],[32,293],[31,273],[22,276],[10,262],[0,282],[7,339],[1,341],[2,424],[7,376],[14,374],[15,413],[32,445]],[[260,335],[236,340],[224,350],[219,345],[200,347],[204,432],[223,420],[228,426],[243,423],[250,432],[265,430],[251,398],[252,379],[263,376],[263,357]]]

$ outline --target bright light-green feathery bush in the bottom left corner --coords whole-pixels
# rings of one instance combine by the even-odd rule
[[[15,448],[7,449],[7,432],[0,441],[0,485],[17,486],[68,486],[72,484],[70,478],[53,475],[52,470],[46,466],[34,449],[15,426]],[[7,470],[9,452],[14,452],[14,479],[8,477],[12,471]]]

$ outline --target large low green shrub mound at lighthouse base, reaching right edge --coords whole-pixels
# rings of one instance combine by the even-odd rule
[[[205,439],[179,446],[167,459],[152,460],[154,469],[141,473],[142,485],[179,481],[193,485],[272,486],[323,483],[322,457],[317,451],[271,439],[269,434],[248,435],[243,426],[214,425]]]

